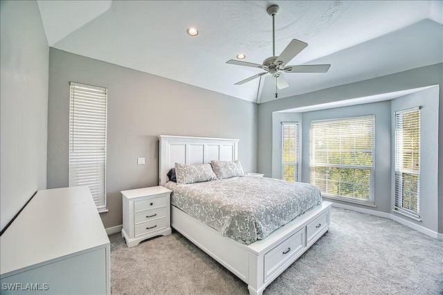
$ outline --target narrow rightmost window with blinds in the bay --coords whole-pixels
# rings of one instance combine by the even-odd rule
[[[395,112],[395,210],[420,213],[420,109]]]

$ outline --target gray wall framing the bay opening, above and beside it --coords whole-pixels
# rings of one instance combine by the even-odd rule
[[[440,85],[439,98],[443,99],[443,64],[434,64],[401,73],[364,80],[311,93],[282,98],[259,105],[257,134],[257,171],[272,173],[272,112],[326,102],[347,100],[425,86]],[[438,232],[443,233],[443,103],[439,105],[438,122]]]

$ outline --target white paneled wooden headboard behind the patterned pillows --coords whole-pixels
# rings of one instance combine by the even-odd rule
[[[174,164],[202,164],[211,160],[235,161],[238,139],[159,135],[159,184],[168,182]]]

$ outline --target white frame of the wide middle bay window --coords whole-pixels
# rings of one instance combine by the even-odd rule
[[[333,123],[333,122],[339,122],[339,121],[347,121],[347,120],[359,120],[359,119],[365,119],[365,118],[371,118],[372,119],[372,125],[370,126],[372,128],[372,144],[371,144],[371,148],[370,148],[370,152],[372,155],[371,158],[371,165],[370,166],[357,166],[357,165],[345,165],[345,164],[330,164],[330,163],[316,163],[316,161],[314,161],[314,145],[313,143],[315,143],[314,138],[313,138],[313,129],[312,129],[312,125],[316,124],[316,123]],[[313,179],[312,179],[312,169],[314,167],[325,167],[325,168],[336,168],[336,169],[341,169],[341,168],[345,168],[345,169],[356,169],[356,170],[369,170],[370,171],[370,176],[369,176],[369,181],[370,183],[368,184],[368,189],[369,189],[369,199],[359,199],[357,197],[348,197],[348,196],[343,196],[343,195],[334,195],[331,193],[325,193],[322,191],[322,195],[324,197],[327,197],[329,199],[338,199],[344,202],[350,202],[350,203],[355,203],[355,204],[362,204],[365,206],[375,206],[375,192],[374,192],[374,180],[375,180],[375,137],[376,137],[376,130],[375,130],[375,125],[376,125],[376,116],[375,114],[370,114],[370,115],[362,115],[362,116],[351,116],[351,117],[345,117],[345,118],[328,118],[328,119],[323,119],[323,120],[312,120],[311,121],[311,138],[310,138],[310,173],[309,173],[309,178],[310,178],[310,183],[313,184],[314,186],[315,181],[313,183]],[[329,150],[328,150],[329,151]],[[357,183],[354,182],[352,183],[353,186],[355,185],[359,185],[361,183]]]

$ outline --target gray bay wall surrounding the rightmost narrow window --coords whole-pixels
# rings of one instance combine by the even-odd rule
[[[410,220],[420,226],[437,231],[438,228],[438,91],[436,87],[392,100],[391,114],[402,109],[420,109],[420,217],[421,222]],[[395,116],[391,118],[392,144],[395,145]],[[394,153],[392,151],[392,157]],[[392,158],[394,159],[394,158]],[[392,166],[392,184],[395,182],[395,166]],[[441,181],[441,175],[440,175]],[[392,209],[395,204],[395,186],[392,185]],[[398,213],[394,213],[403,217]]]

